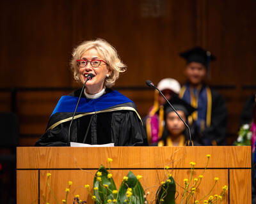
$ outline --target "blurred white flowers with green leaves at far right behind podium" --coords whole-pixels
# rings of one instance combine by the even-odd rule
[[[252,132],[250,131],[250,125],[244,124],[241,126],[238,132],[238,137],[235,142],[235,145],[237,146],[243,146],[243,145],[251,145],[251,139],[252,139]]]

